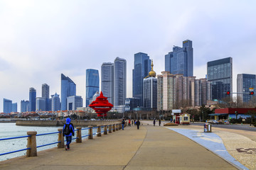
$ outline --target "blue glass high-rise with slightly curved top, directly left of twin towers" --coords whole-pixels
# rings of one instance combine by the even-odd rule
[[[86,69],[86,107],[90,105],[90,99],[100,91],[100,78],[97,69]]]

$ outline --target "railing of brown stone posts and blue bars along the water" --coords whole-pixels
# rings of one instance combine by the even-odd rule
[[[97,132],[92,133],[92,130],[96,129],[96,128],[97,128]],[[101,128],[104,128],[104,130],[101,130]],[[72,140],[76,140],[76,142],[79,143],[79,142],[82,142],[83,137],[88,137],[88,139],[90,140],[90,139],[92,139],[92,137],[94,135],[97,135],[97,136],[100,137],[102,132],[105,135],[107,135],[107,132],[111,133],[112,131],[114,132],[115,130],[120,130],[120,129],[121,129],[121,124],[119,124],[119,123],[114,124],[114,125],[103,125],[103,126],[98,125],[97,127],[94,127],[94,128],[92,126],[89,126],[88,128],[79,128],[78,127],[76,130],[74,130],[74,131],[77,131],[77,134],[76,134],[77,136],[72,138]],[[88,130],[88,135],[83,135],[82,136],[82,130]],[[53,135],[53,134],[58,134],[58,142],[52,142],[52,143],[48,143],[46,145],[39,145],[39,146],[31,147],[31,145],[33,143],[36,144],[36,142],[31,142],[31,140],[36,140],[36,136]],[[98,135],[98,134],[100,134],[100,135]],[[33,138],[33,136],[34,136],[34,138]],[[18,149],[18,150],[15,150],[15,151],[2,153],[2,154],[0,154],[0,156],[5,155],[5,154],[12,154],[12,153],[15,153],[15,152],[21,152],[21,151],[25,151],[25,150],[30,150],[30,152],[27,151],[26,156],[27,157],[35,157],[35,156],[37,156],[36,148],[46,147],[48,145],[55,145],[55,144],[58,144],[58,148],[63,148],[64,147],[64,142],[66,141],[66,140],[64,140],[64,137],[63,137],[63,134],[62,134],[62,129],[58,129],[58,132],[48,132],[48,133],[43,133],[43,134],[38,134],[38,135],[36,135],[35,131],[32,131],[32,133],[30,132],[26,136],[2,138],[2,139],[0,139],[0,141],[15,140],[15,139],[24,138],[24,137],[28,137],[28,145],[27,145],[26,149]]]

